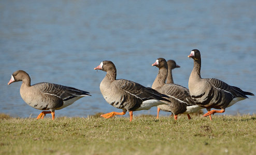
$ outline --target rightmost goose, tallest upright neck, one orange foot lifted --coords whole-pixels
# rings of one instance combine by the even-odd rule
[[[238,87],[230,86],[218,79],[202,79],[200,73],[200,51],[196,49],[192,50],[188,57],[194,59],[194,67],[189,77],[189,92],[197,105],[207,109],[208,112],[203,115],[204,117],[215,113],[224,113],[226,107],[248,98],[246,95],[254,96],[251,92],[246,92]],[[210,111],[210,108],[221,110]]]

